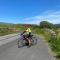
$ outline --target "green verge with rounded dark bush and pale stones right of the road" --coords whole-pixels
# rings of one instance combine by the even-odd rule
[[[60,59],[60,27],[47,21],[42,21],[39,28],[36,28],[35,33],[45,38],[55,56]]]

